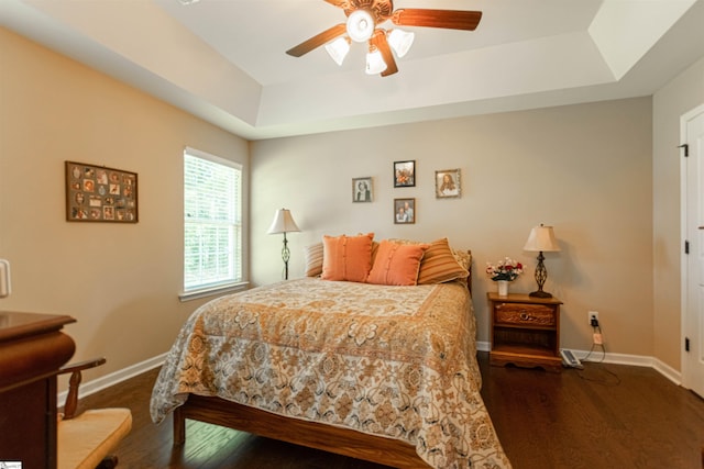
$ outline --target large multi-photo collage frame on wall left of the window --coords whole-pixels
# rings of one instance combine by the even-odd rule
[[[136,223],[136,172],[66,161],[66,220]]]

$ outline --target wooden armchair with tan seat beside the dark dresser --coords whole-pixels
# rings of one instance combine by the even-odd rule
[[[59,375],[70,372],[68,397],[56,425],[58,469],[109,469],[118,464],[111,451],[132,428],[129,409],[97,409],[76,413],[80,372],[106,362],[105,358],[67,365]]]

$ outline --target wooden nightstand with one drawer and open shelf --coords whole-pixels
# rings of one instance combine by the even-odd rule
[[[492,313],[490,362],[562,371],[560,304],[557,298],[486,293]]]

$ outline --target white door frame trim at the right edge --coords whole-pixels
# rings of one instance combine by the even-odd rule
[[[694,109],[685,112],[680,116],[680,144],[688,143],[688,123],[696,118],[698,114],[704,114],[704,103],[695,107]],[[688,336],[686,326],[689,324],[689,305],[688,305],[688,289],[690,287],[689,277],[689,255],[684,254],[684,243],[688,241],[688,221],[690,215],[690,208],[688,204],[688,158],[684,157],[684,153],[680,150],[680,368],[681,368],[681,384],[691,389],[692,375],[689,372],[689,356],[684,349],[684,340]],[[701,188],[704,190],[704,188]]]

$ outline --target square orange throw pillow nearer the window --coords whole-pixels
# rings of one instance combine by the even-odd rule
[[[374,233],[360,236],[322,237],[323,280],[364,282],[372,268]]]

